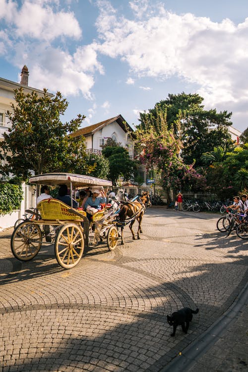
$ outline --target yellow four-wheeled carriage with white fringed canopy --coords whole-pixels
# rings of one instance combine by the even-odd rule
[[[119,233],[114,209],[107,209],[105,204],[103,210],[95,213],[89,221],[84,211],[72,208],[73,188],[102,186],[107,189],[112,185],[111,181],[78,174],[48,173],[31,177],[29,183],[67,185],[70,189],[71,207],[57,199],[41,201],[37,206],[41,219],[24,221],[13,231],[11,251],[17,259],[32,260],[42,244],[53,243],[58,263],[65,269],[71,269],[81,259],[84,247],[94,247],[100,239],[107,240],[110,250],[116,248]],[[49,226],[49,242],[45,239],[43,226]]]

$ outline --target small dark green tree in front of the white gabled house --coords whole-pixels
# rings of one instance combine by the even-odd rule
[[[118,146],[118,144],[117,146],[104,146],[102,153],[109,161],[108,179],[112,181],[114,186],[117,185],[119,177],[128,180],[133,176],[137,164],[130,160],[127,149]]]

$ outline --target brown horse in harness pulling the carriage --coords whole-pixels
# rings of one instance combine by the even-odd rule
[[[151,206],[150,196],[148,192],[143,192],[142,196],[139,197],[134,202],[130,202],[130,201],[124,202],[119,212],[119,216],[118,216],[118,220],[123,223],[121,224],[121,230],[122,230],[121,244],[124,244],[123,229],[124,229],[124,224],[128,223],[128,220],[126,220],[126,218],[128,218],[130,221],[129,228],[131,230],[133,240],[135,240],[135,235],[132,229],[132,225],[135,222],[135,220],[137,220],[138,222],[137,239],[140,239],[139,233],[142,233],[141,222],[142,222],[143,215],[145,213],[145,206],[148,206],[148,207]]]

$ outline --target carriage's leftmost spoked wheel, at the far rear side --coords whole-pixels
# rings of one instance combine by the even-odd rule
[[[32,222],[20,223],[11,236],[11,251],[20,261],[29,261],[39,252],[42,244],[40,226]]]

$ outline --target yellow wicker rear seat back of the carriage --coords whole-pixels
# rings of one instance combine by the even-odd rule
[[[68,210],[71,210],[71,207],[57,199],[42,200],[37,205],[37,208],[39,209],[42,220],[81,221],[80,216],[68,212]],[[75,211],[82,216],[86,216],[86,213],[80,209],[75,209]]]

